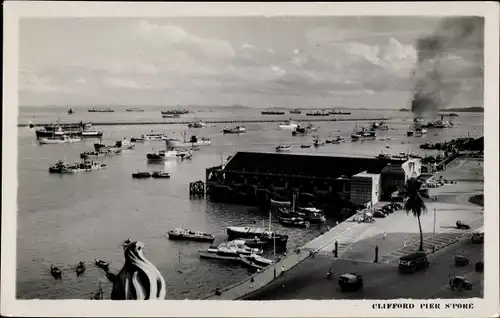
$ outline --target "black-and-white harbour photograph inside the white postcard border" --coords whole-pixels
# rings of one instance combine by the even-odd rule
[[[21,18],[16,299],[483,298],[484,30]]]

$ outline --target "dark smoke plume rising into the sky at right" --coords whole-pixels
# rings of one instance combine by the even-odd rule
[[[411,110],[416,116],[449,105],[470,77],[483,77],[484,20],[444,20],[430,36],[417,41],[417,65]]]

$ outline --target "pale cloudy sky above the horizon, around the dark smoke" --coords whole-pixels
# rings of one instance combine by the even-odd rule
[[[245,105],[399,109],[427,17],[24,18],[22,106]],[[482,40],[482,39],[481,39]],[[452,47],[454,105],[482,106],[483,48]]]

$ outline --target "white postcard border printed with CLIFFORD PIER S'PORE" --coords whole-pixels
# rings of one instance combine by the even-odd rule
[[[5,3],[2,175],[1,313],[16,316],[171,317],[489,317],[498,315],[498,87],[499,6],[494,2],[390,3]],[[242,15],[432,15],[485,17],[485,229],[484,299],[333,301],[158,301],[15,300],[18,21],[21,17],[167,17]],[[422,303],[474,305],[473,310],[422,310]],[[413,304],[413,309],[373,309],[373,304]],[[396,306],[397,307],[397,306]]]

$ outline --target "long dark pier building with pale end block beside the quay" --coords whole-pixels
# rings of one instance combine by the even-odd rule
[[[418,159],[237,152],[206,169],[210,200],[265,207],[270,199],[341,208],[339,202],[376,203],[418,177]]]

